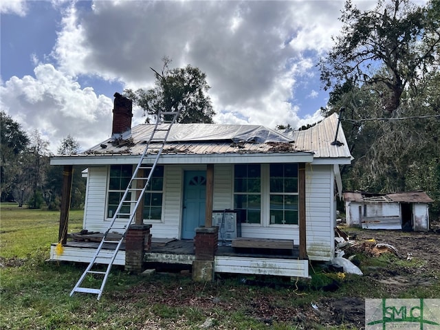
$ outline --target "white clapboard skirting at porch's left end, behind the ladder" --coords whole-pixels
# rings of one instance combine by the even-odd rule
[[[50,245],[50,261],[72,261],[75,263],[89,263],[96,253],[96,249],[64,246],[63,253],[58,256],[55,252],[56,244]],[[111,250],[102,250],[102,256],[112,256]],[[99,259],[98,263],[108,263],[109,259]],[[125,265],[125,251],[118,251],[113,265]]]

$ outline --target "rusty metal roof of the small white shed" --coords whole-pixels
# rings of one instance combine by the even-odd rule
[[[344,192],[344,201],[356,201],[358,203],[375,202],[375,203],[432,203],[426,192],[408,191],[395,192],[391,194],[372,194],[370,192]]]

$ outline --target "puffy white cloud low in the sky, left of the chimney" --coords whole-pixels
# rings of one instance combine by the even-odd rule
[[[81,146],[92,146],[111,133],[112,100],[97,96],[53,65],[38,65],[35,77],[12,77],[0,87],[0,109],[20,122],[25,131],[38,129],[56,151],[68,134]],[[101,129],[102,128],[102,129]]]

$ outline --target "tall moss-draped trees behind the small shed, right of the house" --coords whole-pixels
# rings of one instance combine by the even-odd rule
[[[322,114],[346,108],[342,125],[355,157],[342,168],[346,189],[423,189],[439,199],[440,1],[391,4],[360,12],[347,2],[342,34],[320,62],[330,90]],[[440,203],[430,212],[439,217]]]

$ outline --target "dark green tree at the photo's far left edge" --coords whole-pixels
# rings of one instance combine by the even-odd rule
[[[12,197],[15,180],[19,175],[21,157],[28,146],[29,137],[5,112],[0,111],[0,195],[4,201]],[[22,196],[21,193],[19,196]]]

